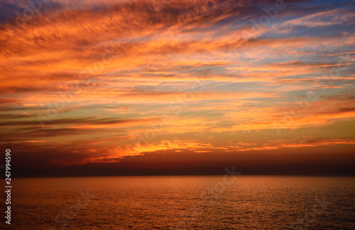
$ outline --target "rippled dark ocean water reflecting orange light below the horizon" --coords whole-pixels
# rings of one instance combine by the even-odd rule
[[[11,213],[10,229],[355,229],[355,178],[21,178]]]

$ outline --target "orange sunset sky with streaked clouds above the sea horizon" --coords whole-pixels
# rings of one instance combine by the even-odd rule
[[[354,28],[347,0],[0,1],[1,151],[19,176],[355,174]]]

